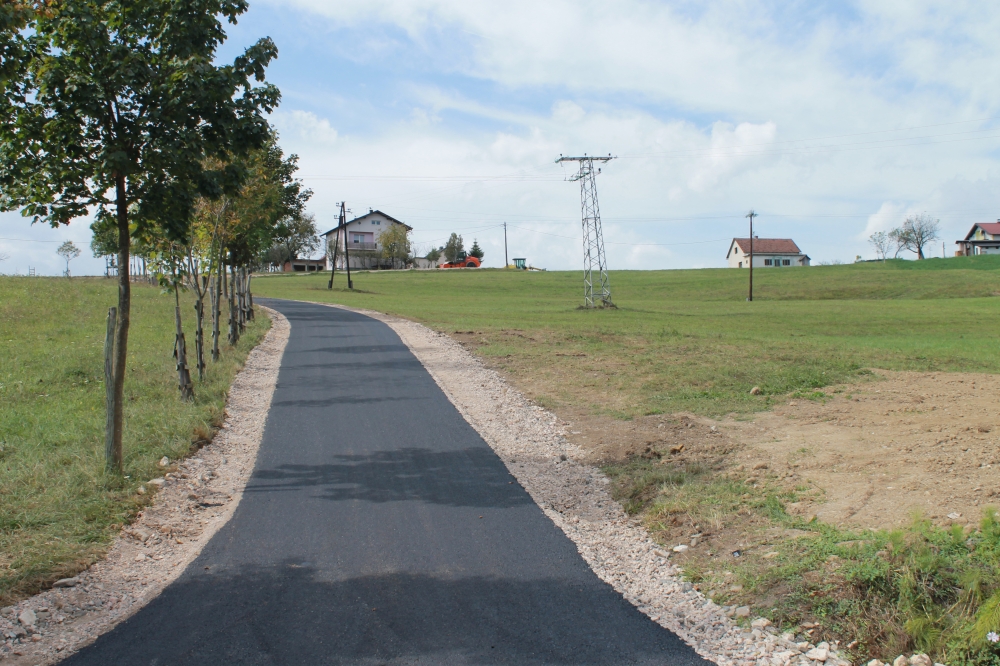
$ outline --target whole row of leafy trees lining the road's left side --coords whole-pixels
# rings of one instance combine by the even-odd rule
[[[130,254],[151,258],[175,298],[212,300],[218,357],[221,300],[229,340],[252,317],[249,268],[304,218],[266,120],[280,99],[265,81],[277,48],[264,38],[218,63],[223,21],[246,0],[73,0],[0,3],[0,209],[53,227],[93,214],[117,255],[118,306],[109,313],[106,450],[122,467],[122,404],[131,321]],[[113,314],[113,317],[112,317]],[[180,332],[179,383],[190,396]]]

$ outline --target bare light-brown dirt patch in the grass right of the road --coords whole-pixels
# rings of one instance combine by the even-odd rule
[[[742,446],[738,469],[761,465],[823,490],[789,507],[835,525],[892,528],[914,512],[978,523],[1000,504],[1000,377],[879,371],[881,379],[789,400],[752,422],[720,424]]]

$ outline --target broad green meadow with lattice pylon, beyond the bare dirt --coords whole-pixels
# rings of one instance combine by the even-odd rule
[[[262,276],[278,298],[343,303],[472,332],[477,352],[547,406],[622,418],[746,414],[870,368],[1000,371],[1000,257],[755,273],[612,272],[618,310],[582,310],[576,272],[396,271]],[[559,354],[557,356],[557,354]],[[587,385],[590,386],[587,386]],[[759,386],[760,395],[750,395]]]

